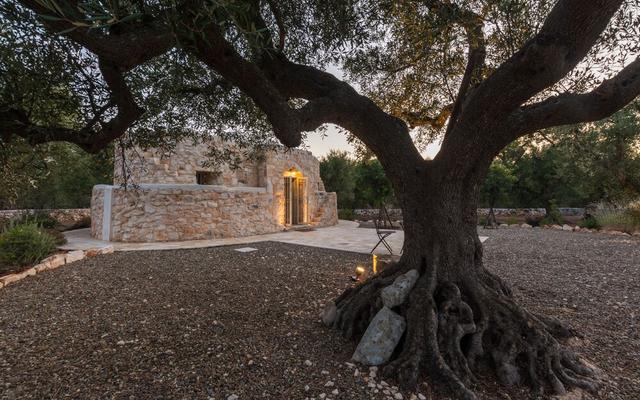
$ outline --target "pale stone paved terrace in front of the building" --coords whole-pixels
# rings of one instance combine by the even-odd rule
[[[68,243],[61,247],[64,250],[86,250],[92,247],[104,247],[108,245],[112,245],[116,251],[196,249],[202,247],[276,241],[326,249],[353,251],[356,253],[369,253],[373,246],[378,242],[378,236],[376,235],[375,229],[358,228],[357,222],[345,220],[340,220],[338,225],[335,226],[317,228],[311,231],[292,230],[240,238],[187,240],[181,242],[106,242],[92,239],[89,229],[68,231],[65,232],[65,236]],[[487,238],[484,236],[480,237],[480,240],[483,242],[486,239]],[[391,245],[395,254],[400,253],[402,243],[404,242],[404,232],[396,231],[391,236],[387,237],[387,242]],[[376,249],[376,254],[389,253],[383,245],[380,245]]]

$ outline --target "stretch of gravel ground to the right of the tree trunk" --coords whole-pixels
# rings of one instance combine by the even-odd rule
[[[604,372],[596,398],[640,399],[640,239],[531,228],[480,234],[490,237],[485,265],[520,304],[584,336],[569,344]]]

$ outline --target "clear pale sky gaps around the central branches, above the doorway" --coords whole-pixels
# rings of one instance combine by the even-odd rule
[[[329,65],[326,69],[327,72],[335,75],[339,79],[345,79],[344,73],[337,65]],[[357,85],[353,85],[358,90]],[[347,142],[347,137],[340,133],[335,126],[329,126],[324,132],[313,132],[307,136],[306,145],[308,150],[313,153],[317,158],[322,158],[331,150],[342,150],[353,153],[353,146]],[[440,150],[440,143],[432,143],[425,151],[422,152],[424,157],[433,158]]]

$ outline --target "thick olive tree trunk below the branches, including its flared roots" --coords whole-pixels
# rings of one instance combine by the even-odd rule
[[[383,369],[402,386],[414,388],[428,376],[436,388],[474,399],[469,388],[490,372],[505,385],[528,384],[540,392],[595,389],[592,371],[558,342],[570,330],[518,306],[502,280],[484,268],[476,198],[477,185],[469,180],[423,179],[405,186],[402,258],[345,291],[335,302],[333,326],[359,339],[382,307],[380,291],[415,269],[416,285],[394,309],[407,330]]]

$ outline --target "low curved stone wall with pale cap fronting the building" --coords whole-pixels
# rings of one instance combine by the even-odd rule
[[[216,239],[276,232],[273,198],[264,189],[114,187],[111,209],[112,241],[157,242]],[[103,193],[97,189],[97,193]],[[98,195],[99,196],[99,195]],[[92,226],[101,238],[99,224]]]

